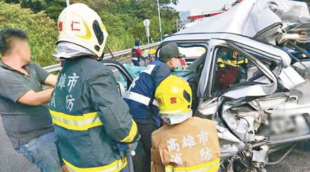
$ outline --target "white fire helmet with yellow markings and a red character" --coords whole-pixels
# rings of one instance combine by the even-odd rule
[[[85,47],[97,56],[103,55],[107,30],[99,15],[83,3],[65,8],[58,19],[59,42],[69,42]]]

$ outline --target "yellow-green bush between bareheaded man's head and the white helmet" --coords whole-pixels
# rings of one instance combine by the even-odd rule
[[[34,13],[19,4],[0,1],[0,28],[19,28],[28,33],[32,61],[42,66],[55,63],[52,53],[58,36],[56,23],[45,12]]]

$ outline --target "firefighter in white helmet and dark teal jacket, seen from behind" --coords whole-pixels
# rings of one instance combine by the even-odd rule
[[[70,171],[127,171],[114,145],[133,142],[138,129],[113,73],[96,61],[107,39],[105,26],[82,3],[65,8],[58,26],[53,55],[64,63],[49,106],[63,160]]]

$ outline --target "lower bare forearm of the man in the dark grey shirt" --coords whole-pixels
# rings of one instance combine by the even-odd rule
[[[30,90],[29,92],[23,94],[23,96],[17,100],[17,103],[30,106],[44,105],[50,102],[53,90],[53,88],[45,89],[41,92],[34,92],[33,90]]]

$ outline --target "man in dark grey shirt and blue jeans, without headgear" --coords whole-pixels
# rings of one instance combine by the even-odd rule
[[[61,171],[54,127],[47,103],[57,76],[30,62],[28,35],[0,31],[0,114],[14,149],[41,171]]]

